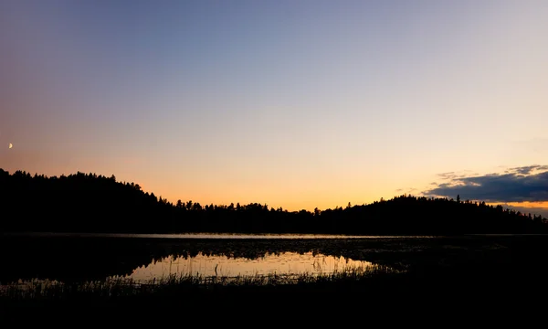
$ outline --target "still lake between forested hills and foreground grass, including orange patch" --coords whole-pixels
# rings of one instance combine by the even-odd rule
[[[539,246],[547,245],[546,240],[546,237],[497,235],[5,234],[0,236],[3,262],[0,284],[119,278],[150,281],[169,275],[318,275],[374,265],[423,268],[440,261],[456,264],[464,263],[462,260],[476,261],[481,255],[495,252],[500,260],[512,260],[511,257],[515,260],[516,246],[533,243],[535,250],[539,250]],[[523,254],[529,255],[531,251]]]

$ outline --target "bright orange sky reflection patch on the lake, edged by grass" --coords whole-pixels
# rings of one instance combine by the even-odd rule
[[[228,258],[227,256],[205,256],[199,253],[195,257],[166,257],[147,266],[135,269],[127,278],[135,281],[161,279],[169,275],[199,276],[254,276],[268,274],[330,274],[345,269],[366,268],[369,261],[345,259],[344,257],[284,252],[278,255],[266,254],[264,257],[249,260]]]

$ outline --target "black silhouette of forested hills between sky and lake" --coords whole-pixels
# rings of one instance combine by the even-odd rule
[[[368,205],[313,211],[282,207],[175,204],[134,183],[78,172],[30,175],[0,169],[3,232],[94,233],[313,233],[455,235],[548,233],[548,221],[510,208],[426,197],[395,196]]]

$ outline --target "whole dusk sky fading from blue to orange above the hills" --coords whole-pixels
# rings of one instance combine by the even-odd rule
[[[543,0],[2,0],[0,168],[548,217],[547,34]]]

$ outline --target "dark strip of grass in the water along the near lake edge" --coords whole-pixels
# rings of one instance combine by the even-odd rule
[[[402,273],[388,266],[344,268],[332,273],[267,274],[253,276],[202,276],[172,274],[151,281],[133,281],[117,278],[108,281],[83,281],[64,283],[58,281],[14,282],[2,287],[0,297],[4,300],[45,299],[115,299],[153,294],[212,291],[233,288],[274,288],[279,286],[318,286],[324,284],[357,283],[375,276]]]

